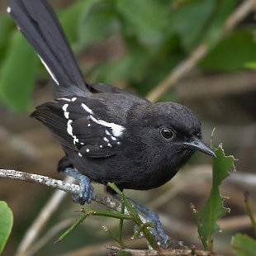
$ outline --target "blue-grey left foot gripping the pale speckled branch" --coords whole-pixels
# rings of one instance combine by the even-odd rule
[[[80,205],[84,205],[85,202],[91,203],[93,194],[91,180],[87,176],[78,173],[74,168],[65,168],[64,173],[78,180],[81,186],[80,194],[74,196],[73,201],[78,202]]]

